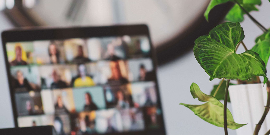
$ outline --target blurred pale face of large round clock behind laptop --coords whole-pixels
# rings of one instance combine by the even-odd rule
[[[48,26],[100,26],[144,23],[154,46],[164,44],[205,11],[210,0],[36,1],[31,13]]]

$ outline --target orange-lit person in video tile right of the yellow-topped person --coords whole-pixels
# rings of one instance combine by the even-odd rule
[[[108,79],[108,83],[110,83],[110,84],[117,84],[117,83],[125,84],[125,83],[129,82],[126,78],[124,78],[122,76],[121,71],[120,71],[120,66],[119,66],[119,63],[117,61],[110,62],[110,68],[112,71],[112,77],[110,77]]]

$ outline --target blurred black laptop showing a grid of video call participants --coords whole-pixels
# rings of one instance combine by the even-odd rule
[[[146,25],[2,32],[16,127],[165,134]]]

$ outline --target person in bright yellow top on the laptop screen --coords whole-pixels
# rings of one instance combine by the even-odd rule
[[[90,76],[86,75],[86,66],[81,64],[78,66],[78,77],[74,80],[74,87],[86,87],[86,86],[94,86],[95,82]]]

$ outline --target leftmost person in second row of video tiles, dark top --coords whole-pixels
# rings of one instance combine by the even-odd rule
[[[15,88],[25,88],[27,91],[33,90],[33,87],[30,85],[28,80],[23,77],[23,73],[21,70],[18,70],[16,72],[16,77],[17,78],[15,79],[15,84],[14,84]]]

